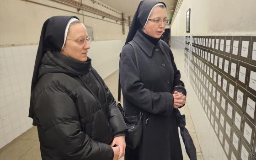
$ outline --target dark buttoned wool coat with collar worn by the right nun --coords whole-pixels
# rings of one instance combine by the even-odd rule
[[[133,37],[139,59],[126,44],[120,59],[120,83],[127,116],[143,112],[143,137],[137,149],[127,147],[125,160],[182,160],[174,91],[186,95],[181,74],[168,45],[151,43],[139,31]]]

